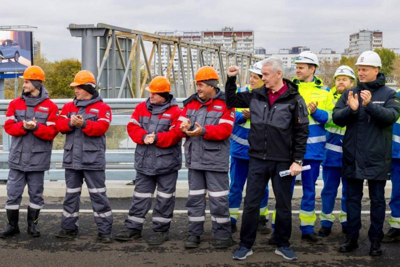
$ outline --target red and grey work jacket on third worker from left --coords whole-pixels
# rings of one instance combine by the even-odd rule
[[[175,125],[180,108],[172,96],[161,105],[151,105],[149,99],[138,104],[126,128],[136,143],[134,168],[157,175],[179,170],[182,166],[181,133]],[[155,133],[153,144],[144,144],[147,134]]]

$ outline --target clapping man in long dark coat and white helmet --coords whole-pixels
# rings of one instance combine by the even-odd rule
[[[382,254],[385,217],[384,186],[390,179],[392,125],[400,116],[400,103],[394,90],[384,86],[379,73],[379,56],[363,52],[357,59],[357,86],[344,92],[333,110],[333,122],[346,126],[343,138],[342,177],[347,179],[347,239],[340,252],[358,247],[361,228],[361,199],[364,179],[368,180],[371,224],[369,254]]]

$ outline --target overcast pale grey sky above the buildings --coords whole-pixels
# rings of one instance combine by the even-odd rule
[[[12,5],[6,1],[6,5]],[[34,4],[33,4],[34,3]],[[49,60],[80,59],[80,39],[70,36],[70,23],[105,23],[154,33],[159,30],[253,30],[254,46],[267,53],[308,46],[318,53],[341,53],[348,36],[359,29],[383,31],[383,46],[400,48],[400,1],[128,1],[19,0],[4,8],[0,25],[37,27],[34,37]]]

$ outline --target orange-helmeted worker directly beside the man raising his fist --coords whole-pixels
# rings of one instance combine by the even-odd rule
[[[226,107],[225,93],[218,86],[212,67],[201,67],[195,75],[196,93],[183,101],[179,128],[188,168],[189,195],[186,208],[188,236],[186,248],[197,247],[204,231],[205,194],[208,191],[215,248],[232,244],[229,193],[230,134],[234,109]]]

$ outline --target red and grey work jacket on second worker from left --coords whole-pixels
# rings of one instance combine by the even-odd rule
[[[71,115],[81,115],[83,125],[71,126]],[[66,103],[61,110],[56,126],[65,134],[62,167],[75,170],[105,169],[105,132],[111,123],[111,109],[102,102],[95,91],[90,100]]]

